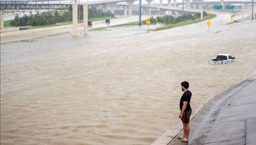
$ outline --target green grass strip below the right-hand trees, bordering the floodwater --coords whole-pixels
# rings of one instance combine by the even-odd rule
[[[176,23],[176,24],[166,24],[162,27],[159,27],[159,28],[156,28],[156,29],[153,29],[153,30],[149,30],[149,31],[162,31],[162,30],[165,30],[165,29],[172,29],[172,28],[175,28],[175,27],[183,26],[183,25],[195,24],[195,23],[202,22],[204,20],[209,20],[209,19],[215,18],[215,17],[216,17],[216,15],[208,15],[208,16],[204,17],[203,20],[201,20],[200,18],[196,18],[195,20],[186,20],[184,22],[179,22],[179,23]]]

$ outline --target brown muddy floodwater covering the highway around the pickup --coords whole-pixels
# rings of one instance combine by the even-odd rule
[[[159,32],[121,27],[1,45],[1,144],[150,144],[180,129],[180,82],[193,115],[255,75],[256,22],[229,15]],[[210,66],[217,53],[232,64]]]

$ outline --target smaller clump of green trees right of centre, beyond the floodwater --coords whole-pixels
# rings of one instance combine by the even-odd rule
[[[204,11],[203,13],[204,17],[207,16],[208,14]],[[173,17],[172,15],[164,15],[163,17],[150,17],[150,22],[152,24],[156,24],[156,23],[162,23],[162,24],[175,24],[175,23],[179,23],[179,22],[183,22],[186,20],[195,20],[196,18],[200,18],[201,15],[199,12],[195,13],[195,14],[184,14],[182,16],[179,16],[177,18]]]

